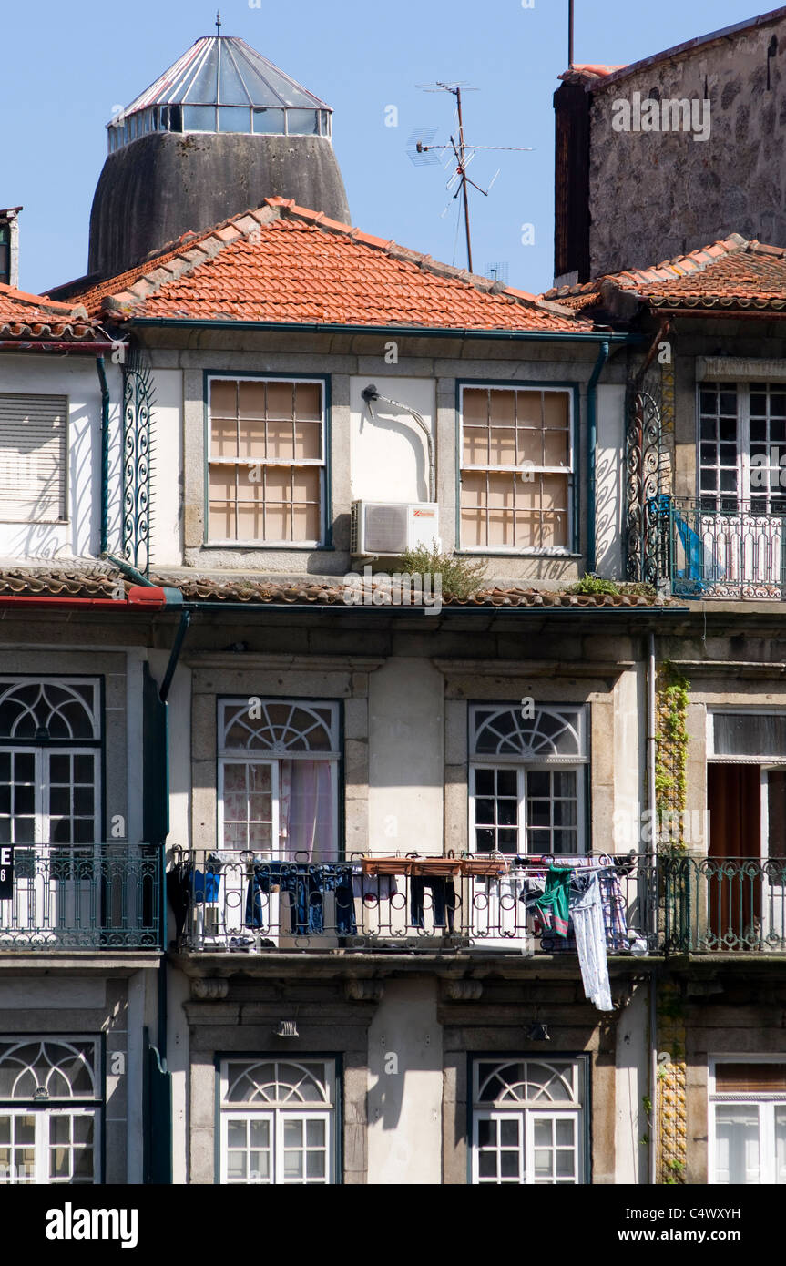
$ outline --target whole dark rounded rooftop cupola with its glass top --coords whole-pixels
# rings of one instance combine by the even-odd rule
[[[87,271],[114,276],[266,197],[349,223],[332,116],[246,41],[197,39],[108,124]]]

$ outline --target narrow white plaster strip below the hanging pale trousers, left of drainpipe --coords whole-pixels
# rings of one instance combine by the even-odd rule
[[[648,1182],[647,1146],[642,1138],[649,1129],[644,1114],[644,1095],[649,1086],[649,991],[639,985],[616,1027],[614,1181]]]

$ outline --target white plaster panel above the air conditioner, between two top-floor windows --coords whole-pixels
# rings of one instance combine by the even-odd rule
[[[428,442],[408,413],[384,404],[370,406],[362,391],[373,384],[381,395],[415,409],[434,434],[433,379],[351,379],[352,499],[365,501],[428,501]]]

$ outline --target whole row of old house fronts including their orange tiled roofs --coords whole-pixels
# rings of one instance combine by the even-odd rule
[[[783,1181],[785,254],[0,286],[3,1182]]]

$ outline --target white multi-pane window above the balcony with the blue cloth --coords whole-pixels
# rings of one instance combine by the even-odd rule
[[[701,384],[699,495],[704,513],[786,514],[786,384]]]

